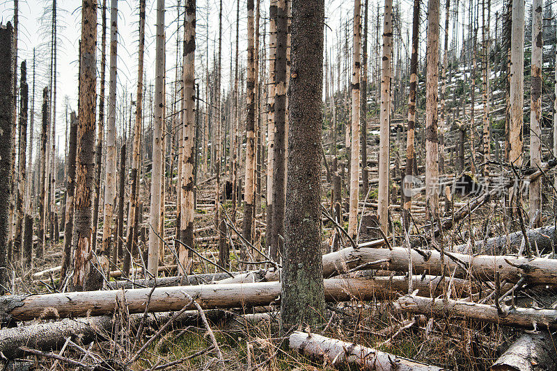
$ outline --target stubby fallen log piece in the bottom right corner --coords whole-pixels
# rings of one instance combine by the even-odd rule
[[[492,371],[551,371],[557,369],[554,340],[547,331],[524,333],[492,365]]]

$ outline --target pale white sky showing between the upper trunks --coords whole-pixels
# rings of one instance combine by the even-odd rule
[[[99,0],[102,5],[102,0]],[[178,0],[166,0],[166,70],[167,83],[172,84],[175,80],[175,61],[176,61],[176,37],[178,35]],[[183,3],[181,0],[180,10],[183,11]],[[461,0],[462,1],[462,0]],[[492,14],[496,8],[500,8],[501,0],[492,0]],[[402,20],[401,30],[402,42],[401,53],[405,54],[407,48],[407,35],[411,32],[411,0],[395,0],[400,3],[400,17]],[[363,3],[363,1],[362,1]],[[455,3],[455,0],[453,0]],[[227,89],[230,84],[230,62],[231,52],[235,49],[235,22],[236,22],[236,1],[223,0],[223,42],[222,42],[222,88]],[[56,133],[60,147],[65,146],[65,111],[66,106],[70,110],[77,110],[77,56],[78,43],[81,33],[81,1],[79,0],[57,0],[57,99],[56,99]],[[107,0],[107,6],[111,6],[111,0]],[[155,72],[155,23],[156,23],[156,1],[147,1],[147,19],[146,19],[146,53],[145,53],[145,72],[147,85],[154,82]],[[347,20],[352,20],[354,1],[343,0],[325,0],[326,12],[326,34],[327,34],[327,50],[329,56],[336,57],[338,44],[338,30],[341,24]],[[377,23],[377,10],[383,12],[383,0],[369,0],[369,38],[370,45],[375,44],[377,39],[377,31],[375,24]],[[425,48],[425,10],[427,1],[422,1],[422,19],[421,22],[421,49]],[[0,22],[5,24],[13,20],[13,0],[0,2]],[[123,95],[130,97],[130,93],[135,96],[137,81],[137,39],[139,28],[138,14],[139,0],[120,0],[118,1],[118,100],[117,107],[122,110]],[[262,32],[263,22],[268,14],[269,1],[261,2],[261,25]],[[444,1],[441,0],[441,7],[444,7]],[[210,10],[207,16],[207,8]],[[466,7],[467,8],[467,7]],[[462,13],[464,10],[462,4],[458,4],[457,8],[453,8]],[[52,0],[19,0],[19,37],[18,37],[18,64],[21,60],[27,60],[29,90],[32,90],[33,83],[33,48],[36,50],[36,91],[35,91],[35,112],[40,113],[40,100],[42,88],[48,84],[47,76],[49,76],[50,66],[50,25],[52,24]],[[219,0],[198,0],[197,1],[197,28],[196,28],[196,76],[205,79],[205,63],[207,60],[207,30],[210,61],[214,56],[217,48],[218,30],[219,30]],[[246,65],[246,0],[240,0],[240,66]],[[101,35],[101,11],[98,14],[98,38]],[[107,10],[107,17],[110,17],[110,10]],[[462,27],[462,15],[459,15],[459,25],[455,28],[455,18],[452,15],[451,28],[456,29]],[[492,17],[494,19],[494,16]],[[182,19],[182,17],[180,17]],[[110,24],[109,19],[107,24]],[[380,21],[382,24],[382,20]],[[444,11],[441,11],[441,32],[444,25]],[[181,26],[181,25],[180,25]],[[351,27],[351,26],[350,26]],[[268,31],[268,26],[267,26]],[[183,27],[180,27],[180,38],[183,37]],[[453,38],[458,42],[462,39],[460,32],[450,31],[450,42]],[[351,33],[349,34],[351,35]],[[345,36],[340,33],[340,38],[344,40]],[[380,40],[380,38],[379,38]],[[263,40],[261,40],[263,42]],[[380,42],[380,41],[379,41]],[[108,73],[108,44],[109,30],[107,31],[107,79]],[[352,45],[352,40],[349,40]],[[100,42],[97,43],[97,60],[100,69]],[[181,58],[180,45],[180,58]],[[372,46],[371,46],[372,48]],[[370,58],[374,56],[373,49],[370,49]],[[377,51],[376,51],[377,53]],[[423,56],[423,50],[421,51]],[[99,72],[100,75],[100,72]],[[100,76],[97,76],[97,83],[100,83]],[[167,87],[167,94],[172,94],[173,85]],[[200,83],[203,90],[204,84]],[[148,86],[147,86],[148,89]],[[98,92],[98,89],[97,89]],[[108,93],[108,81],[106,92]],[[203,93],[202,93],[203,94]],[[31,107],[31,102],[29,103]],[[121,115],[121,112],[120,112]],[[40,116],[36,115],[36,119]],[[38,125],[35,126],[37,133]],[[37,135],[37,134],[36,134]],[[36,137],[37,138],[37,137]]]

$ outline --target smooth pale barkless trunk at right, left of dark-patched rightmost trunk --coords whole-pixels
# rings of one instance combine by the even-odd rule
[[[509,161],[521,167],[524,107],[524,0],[512,0],[510,26],[510,131]]]

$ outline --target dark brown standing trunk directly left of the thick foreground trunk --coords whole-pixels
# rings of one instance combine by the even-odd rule
[[[274,63],[274,140],[271,233],[267,234],[271,258],[278,261],[284,238],[286,151],[286,44],[288,0],[276,2],[276,58]]]

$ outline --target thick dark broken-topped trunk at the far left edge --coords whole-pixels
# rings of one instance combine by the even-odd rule
[[[8,286],[6,253],[12,184],[15,50],[12,24],[0,26],[0,295]]]

